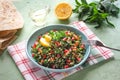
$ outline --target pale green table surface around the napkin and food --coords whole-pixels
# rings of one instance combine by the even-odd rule
[[[25,24],[23,29],[18,33],[18,38],[12,44],[26,40],[34,30],[40,28],[33,24],[29,15],[31,8],[35,8],[39,6],[39,4],[50,6],[50,12],[47,16],[47,23],[45,25],[69,24],[73,21],[78,21],[77,14],[74,13],[67,21],[59,21],[56,18],[54,8],[59,2],[63,1],[68,2],[72,7],[75,6],[74,0],[15,0],[13,3],[23,16]],[[90,2],[95,0],[87,1]],[[117,1],[116,5],[120,7],[120,0]],[[87,26],[106,45],[120,49],[120,14],[118,18],[110,17],[109,20],[116,26],[115,28],[102,26],[99,29],[95,29],[94,25],[87,24]],[[90,66],[63,80],[120,80],[120,52],[113,51],[113,53],[113,60],[103,61]],[[0,80],[24,80],[7,50],[0,56]]]

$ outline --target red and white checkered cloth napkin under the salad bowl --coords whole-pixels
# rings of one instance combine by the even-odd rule
[[[95,34],[85,25],[84,22],[74,22],[72,25],[82,31],[89,39],[99,40],[98,37],[95,36]],[[103,47],[93,46],[91,48],[90,56],[85,64],[83,64],[83,66],[79,66],[78,68],[68,72],[49,72],[38,68],[28,59],[25,53],[25,43],[26,42],[23,41],[18,44],[9,46],[8,52],[26,80],[60,80],[87,66],[94,65],[113,57],[111,50]]]

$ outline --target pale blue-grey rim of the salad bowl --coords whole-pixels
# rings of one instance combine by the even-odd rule
[[[31,38],[37,31],[39,31],[40,29],[48,28],[48,27],[50,27],[50,26],[66,26],[66,27],[70,27],[70,28],[72,28],[72,29],[75,29],[75,30],[79,31],[80,34],[82,34],[82,35],[88,40],[88,37],[87,37],[83,32],[81,32],[80,30],[78,30],[77,28],[75,28],[74,25],[64,25],[64,24],[52,24],[52,25],[47,25],[47,26],[45,26],[45,27],[43,27],[43,28],[39,28],[39,29],[34,30],[34,31],[31,33],[31,35],[28,37],[27,42],[26,42],[26,44],[25,44],[25,52],[26,52],[26,54],[27,54],[28,59],[31,60],[32,63],[34,63],[35,65],[37,65],[37,66],[40,67],[41,69],[44,69],[44,70],[47,70],[47,71],[52,71],[52,72],[66,72],[66,71],[75,69],[75,68],[81,66],[82,64],[84,64],[84,62],[87,60],[87,58],[88,58],[89,55],[90,55],[90,50],[91,50],[91,49],[90,49],[90,45],[88,45],[87,52],[86,52],[87,54],[85,54],[85,57],[80,61],[80,63],[75,64],[74,66],[69,67],[69,68],[65,68],[65,69],[52,69],[52,68],[48,68],[48,67],[42,66],[42,65],[38,64],[38,63],[32,58],[32,56],[30,56],[30,54],[29,54],[28,51],[27,51],[28,41],[30,40],[30,38]]]

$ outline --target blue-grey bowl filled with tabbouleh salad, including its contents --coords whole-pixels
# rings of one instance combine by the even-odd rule
[[[87,37],[74,26],[48,25],[34,31],[27,40],[28,58],[47,71],[65,72],[81,66],[90,54]]]

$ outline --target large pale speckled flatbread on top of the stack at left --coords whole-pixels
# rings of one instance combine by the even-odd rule
[[[20,29],[23,18],[9,0],[0,0],[0,31]]]

